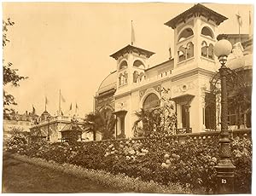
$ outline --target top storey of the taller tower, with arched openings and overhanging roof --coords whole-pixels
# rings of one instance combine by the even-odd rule
[[[209,66],[215,65],[215,31],[224,20],[227,20],[224,15],[199,3],[166,22],[174,30],[174,69],[196,63],[209,70]]]

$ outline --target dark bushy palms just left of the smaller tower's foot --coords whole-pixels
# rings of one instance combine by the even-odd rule
[[[112,112],[103,109],[101,112],[91,112],[84,119],[84,130],[93,134],[96,141],[96,133],[102,134],[103,140],[113,139],[115,118]]]

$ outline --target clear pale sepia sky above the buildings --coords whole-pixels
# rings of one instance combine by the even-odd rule
[[[59,90],[67,113],[77,103],[79,116],[93,111],[93,96],[116,61],[109,55],[131,43],[131,20],[135,46],[153,51],[148,64],[157,65],[173,51],[173,30],[164,23],[194,3],[3,3],[3,20],[10,18],[10,43],[3,49],[5,62],[28,77],[20,87],[7,86],[15,96],[15,109],[40,115],[58,110]],[[241,14],[241,33],[248,33],[252,5],[203,3],[228,17],[217,33],[238,33],[236,14]],[[252,16],[253,19],[253,16]]]

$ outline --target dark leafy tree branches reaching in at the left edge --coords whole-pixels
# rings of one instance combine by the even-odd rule
[[[7,37],[8,27],[14,26],[15,22],[8,20],[3,20],[3,48],[9,43],[9,39]],[[12,68],[13,64],[8,62],[7,65],[3,63],[3,113],[14,112],[13,109],[8,108],[11,105],[16,105],[15,97],[10,95],[4,86],[7,84],[11,84],[15,87],[19,86],[19,82],[22,79],[26,79],[27,77],[23,77],[18,75],[18,70]]]

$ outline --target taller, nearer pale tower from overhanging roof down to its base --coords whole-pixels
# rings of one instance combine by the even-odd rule
[[[209,82],[218,69],[213,55],[216,30],[224,20],[224,15],[199,3],[165,23],[174,30],[174,68],[169,87],[176,103],[177,130],[214,130],[219,122],[217,107],[210,107],[208,97]]]

